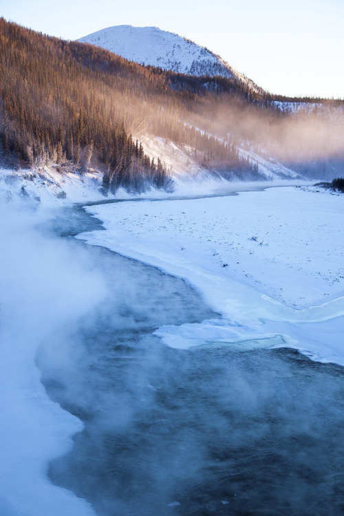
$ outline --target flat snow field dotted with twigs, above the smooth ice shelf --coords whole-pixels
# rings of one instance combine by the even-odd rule
[[[290,187],[87,210],[107,228],[93,238],[153,252],[182,268],[198,262],[224,281],[241,281],[292,308],[344,294],[341,196]]]

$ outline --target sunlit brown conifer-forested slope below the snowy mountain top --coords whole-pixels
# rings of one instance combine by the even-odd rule
[[[285,113],[276,98],[223,77],[193,77],[126,61],[107,50],[52,38],[0,19],[0,158],[10,166],[103,172],[103,189],[170,189],[163,156],[140,137],[173,141],[202,169],[259,176],[252,149],[300,162],[337,155],[325,114]],[[330,112],[330,116],[328,113]],[[307,125],[312,123],[312,138]],[[330,128],[330,129],[329,129]],[[297,136],[295,138],[295,135]],[[337,135],[338,136],[338,135]]]

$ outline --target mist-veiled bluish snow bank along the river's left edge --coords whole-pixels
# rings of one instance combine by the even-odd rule
[[[45,394],[36,351],[104,294],[87,256],[35,229],[49,216],[23,203],[1,208],[1,516],[91,516],[84,500],[53,486],[48,462],[72,446],[81,422]]]

